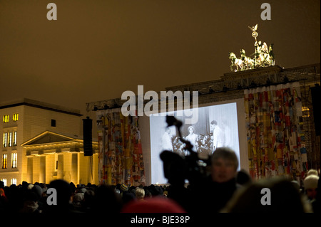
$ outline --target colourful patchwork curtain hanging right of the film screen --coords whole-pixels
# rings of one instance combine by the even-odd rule
[[[244,93],[251,176],[261,179],[283,175],[300,182],[307,171],[300,84],[255,88]]]

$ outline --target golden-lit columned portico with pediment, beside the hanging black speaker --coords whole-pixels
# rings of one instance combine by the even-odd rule
[[[97,184],[97,154],[83,155],[83,139],[45,131],[21,144],[26,151],[26,181],[64,179],[74,184]],[[97,149],[97,142],[93,148]]]

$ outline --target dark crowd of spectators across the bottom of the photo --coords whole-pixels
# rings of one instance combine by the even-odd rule
[[[233,150],[216,149],[211,157],[207,181],[197,188],[175,185],[126,186],[68,183],[62,179],[50,184],[4,186],[0,181],[1,213],[320,213],[319,173],[308,171],[303,185],[275,177],[253,181],[237,171]],[[49,205],[47,190],[56,189],[56,205]],[[262,189],[272,194],[269,205],[262,204]]]

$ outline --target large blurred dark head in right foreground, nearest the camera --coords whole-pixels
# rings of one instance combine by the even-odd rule
[[[263,192],[262,189],[270,189]],[[269,196],[270,194],[270,196]],[[275,177],[256,181],[237,191],[224,213],[305,213],[312,208],[294,184]]]

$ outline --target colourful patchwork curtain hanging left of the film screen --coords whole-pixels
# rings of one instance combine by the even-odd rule
[[[138,186],[145,183],[138,117],[124,117],[121,109],[96,112],[98,177],[101,184]]]

